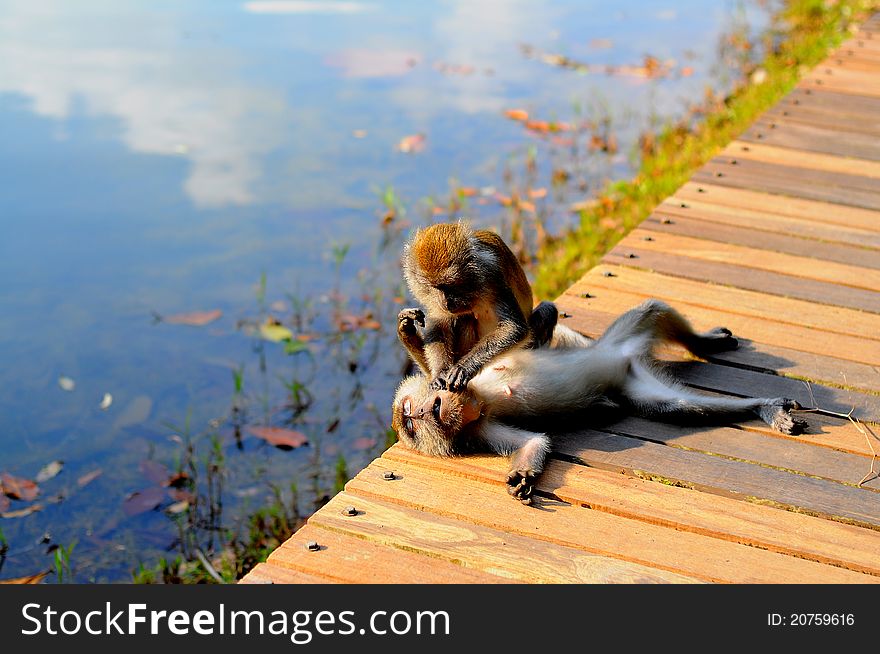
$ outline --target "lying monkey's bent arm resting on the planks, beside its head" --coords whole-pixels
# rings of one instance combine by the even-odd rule
[[[494,452],[510,455],[507,492],[523,504],[531,504],[535,480],[544,470],[550,453],[550,438],[491,420],[483,426],[480,436]]]

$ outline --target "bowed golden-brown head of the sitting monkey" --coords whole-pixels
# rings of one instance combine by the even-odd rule
[[[473,310],[485,291],[486,262],[475,246],[473,230],[463,222],[419,229],[403,252],[403,273],[415,298],[429,312],[460,315]]]

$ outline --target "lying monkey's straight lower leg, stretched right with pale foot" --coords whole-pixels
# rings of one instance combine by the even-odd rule
[[[634,362],[624,394],[636,411],[646,418],[720,419],[759,416],[783,434],[800,434],[806,423],[791,415],[800,405],[784,397],[727,398],[695,393],[678,382]]]

